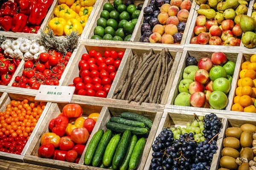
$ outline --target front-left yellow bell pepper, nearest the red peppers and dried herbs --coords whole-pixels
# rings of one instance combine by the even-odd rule
[[[63,18],[54,17],[49,21],[49,27],[52,29],[54,35],[63,35],[65,25],[66,20]]]

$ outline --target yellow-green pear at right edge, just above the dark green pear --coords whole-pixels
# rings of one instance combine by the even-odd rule
[[[244,33],[247,31],[254,31],[256,28],[256,21],[252,17],[243,15],[240,18],[240,27]]]

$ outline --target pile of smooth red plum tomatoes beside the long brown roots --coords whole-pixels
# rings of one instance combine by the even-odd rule
[[[123,56],[123,51],[105,51],[104,57],[95,50],[83,54],[79,61],[80,77],[70,85],[76,87],[74,94],[107,97]]]

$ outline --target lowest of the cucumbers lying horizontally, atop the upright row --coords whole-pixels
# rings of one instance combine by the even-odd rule
[[[114,122],[107,122],[106,127],[117,133],[124,133],[125,130],[131,130],[131,133],[134,135],[144,135],[148,133],[148,130],[145,127],[127,126]]]

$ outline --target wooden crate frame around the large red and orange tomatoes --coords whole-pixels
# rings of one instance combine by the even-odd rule
[[[47,115],[49,115],[49,116],[47,116],[47,118],[44,119],[44,121],[42,122],[41,127],[38,129],[38,133],[35,135],[33,141],[30,144],[30,147],[24,157],[24,161],[26,163],[37,164],[37,165],[47,166],[47,167],[53,167],[53,168],[58,168],[58,169],[62,169],[62,170],[70,170],[73,168],[80,167],[80,164],[38,157],[38,148],[40,147],[41,136],[44,133],[49,132],[49,122],[52,119],[56,118],[62,112],[62,108],[65,105],[67,105],[67,104],[53,103],[50,106],[49,111],[47,113]],[[102,110],[102,106],[97,106],[97,105],[86,105],[86,104],[82,105],[82,104],[80,104],[80,106],[83,109],[83,114],[82,114],[83,117],[87,117],[91,113],[100,113]],[[101,119],[103,119],[103,118],[101,118],[102,116],[104,116],[104,115],[102,115],[102,113],[100,113],[100,116],[98,118],[98,121],[96,122],[96,125],[101,124]],[[96,128],[94,127],[93,132],[91,134],[94,134],[95,132],[96,132]]]

